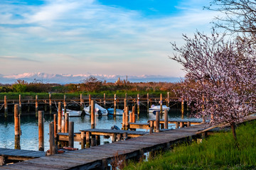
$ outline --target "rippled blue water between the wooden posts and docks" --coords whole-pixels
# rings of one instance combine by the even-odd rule
[[[179,109],[169,111],[169,119],[181,119],[181,111]],[[44,120],[44,145],[45,151],[49,149],[49,123],[53,121],[53,116],[45,115]],[[146,123],[149,118],[155,118],[155,115],[141,112],[139,114],[139,120],[137,123]],[[188,118],[185,113],[184,119]],[[74,131],[90,129],[90,117],[85,115],[85,118],[73,117],[69,121],[74,122]],[[122,116],[102,116],[102,118],[96,118],[96,128],[98,129],[110,129],[113,125],[117,125],[122,128]],[[169,125],[171,128],[172,125]],[[38,119],[35,115],[21,115],[21,149],[38,150]],[[140,130],[145,131],[145,130]],[[104,139],[101,137],[101,144],[105,142],[111,142],[110,139]],[[0,147],[14,149],[14,117],[8,118],[0,117]],[[74,147],[80,149],[79,142],[75,142]]]

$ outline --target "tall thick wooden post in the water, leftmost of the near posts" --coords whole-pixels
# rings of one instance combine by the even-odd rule
[[[18,116],[18,104],[14,105],[14,135],[15,135],[15,144],[14,144],[14,149],[21,149],[21,143],[20,143],[20,120]]]

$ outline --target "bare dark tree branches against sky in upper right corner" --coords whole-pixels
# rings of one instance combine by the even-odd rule
[[[215,25],[231,33],[242,33],[256,40],[256,1],[249,0],[213,0],[210,10],[220,11],[224,16],[215,17]]]

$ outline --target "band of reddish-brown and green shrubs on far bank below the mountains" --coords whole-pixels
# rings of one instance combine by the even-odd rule
[[[0,93],[6,92],[47,92],[47,93],[77,93],[77,92],[102,92],[102,91],[169,91],[170,96],[175,96],[174,89],[180,87],[179,83],[168,82],[141,82],[131,83],[125,80],[117,80],[115,83],[100,81],[95,77],[88,77],[79,84],[45,84],[43,81],[34,80],[28,83],[18,79],[14,84],[0,84]]]

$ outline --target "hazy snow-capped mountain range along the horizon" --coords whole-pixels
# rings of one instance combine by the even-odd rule
[[[178,82],[181,77],[167,77],[160,75],[139,75],[139,76],[126,76],[126,75],[108,75],[108,74],[48,74],[42,72],[23,73],[23,74],[0,74],[0,84],[14,84],[18,79],[32,82],[34,80],[42,81],[43,83],[57,83],[57,84],[78,84],[82,80],[93,76],[101,81],[114,82],[117,79],[127,79],[130,82]]]

